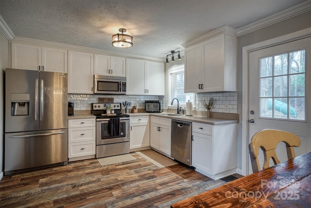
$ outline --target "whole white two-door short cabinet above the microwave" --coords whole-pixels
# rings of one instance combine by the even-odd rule
[[[125,58],[95,54],[94,74],[105,76],[125,76]]]

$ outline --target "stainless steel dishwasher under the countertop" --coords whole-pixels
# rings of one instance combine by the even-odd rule
[[[191,166],[192,123],[172,120],[171,157]]]

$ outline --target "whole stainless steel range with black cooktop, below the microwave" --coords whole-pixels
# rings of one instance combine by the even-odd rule
[[[111,105],[114,113],[106,114]],[[130,118],[121,113],[121,103],[92,103],[96,116],[96,158],[126,154],[130,151]]]

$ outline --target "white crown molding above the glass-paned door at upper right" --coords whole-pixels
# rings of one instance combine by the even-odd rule
[[[267,27],[285,19],[293,18],[309,11],[311,11],[311,0],[307,0],[274,15],[270,15],[266,18],[259,19],[258,21],[242,26],[237,29],[237,36],[239,37],[247,33],[251,33],[255,30],[259,30],[261,28]]]

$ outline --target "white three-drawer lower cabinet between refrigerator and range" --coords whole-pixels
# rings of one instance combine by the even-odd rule
[[[95,118],[68,120],[69,161],[95,158],[96,121]]]

